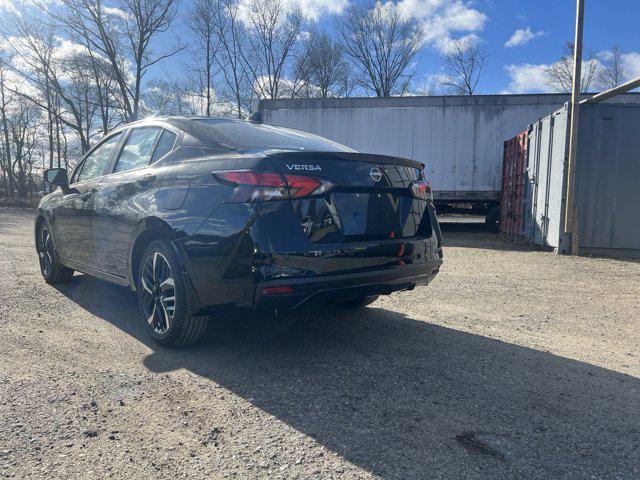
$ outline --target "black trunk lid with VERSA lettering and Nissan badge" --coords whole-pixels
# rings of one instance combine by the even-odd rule
[[[431,234],[426,201],[412,183],[424,165],[413,160],[351,152],[278,152],[279,173],[328,181],[319,196],[291,198],[300,227],[312,242],[400,239]]]

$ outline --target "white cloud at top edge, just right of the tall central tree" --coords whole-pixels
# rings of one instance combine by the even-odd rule
[[[464,0],[400,0],[397,6],[405,15],[423,22],[427,44],[446,53],[454,39],[479,40],[475,32],[484,28],[488,17],[471,4]]]

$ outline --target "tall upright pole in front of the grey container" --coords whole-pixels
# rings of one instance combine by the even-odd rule
[[[584,0],[576,0],[576,36],[573,47],[573,89],[571,90],[571,127],[569,135],[569,158],[567,164],[567,200],[564,217],[564,233],[571,234],[571,254],[579,249],[578,209],[573,203],[576,175],[576,153],[578,151],[578,128],[580,120],[580,79],[582,76],[582,37],[584,30]]]

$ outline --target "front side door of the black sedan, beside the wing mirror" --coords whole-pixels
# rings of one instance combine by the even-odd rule
[[[91,217],[93,194],[109,166],[120,133],[106,138],[84,158],[73,172],[69,193],[53,208],[53,231],[56,250],[63,261],[93,266]]]

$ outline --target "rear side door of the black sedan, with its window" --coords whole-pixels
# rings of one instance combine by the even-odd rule
[[[162,127],[129,131],[112,173],[96,186],[92,222],[96,268],[125,278],[138,221],[155,205],[161,173],[152,164],[173,149],[177,135]]]

